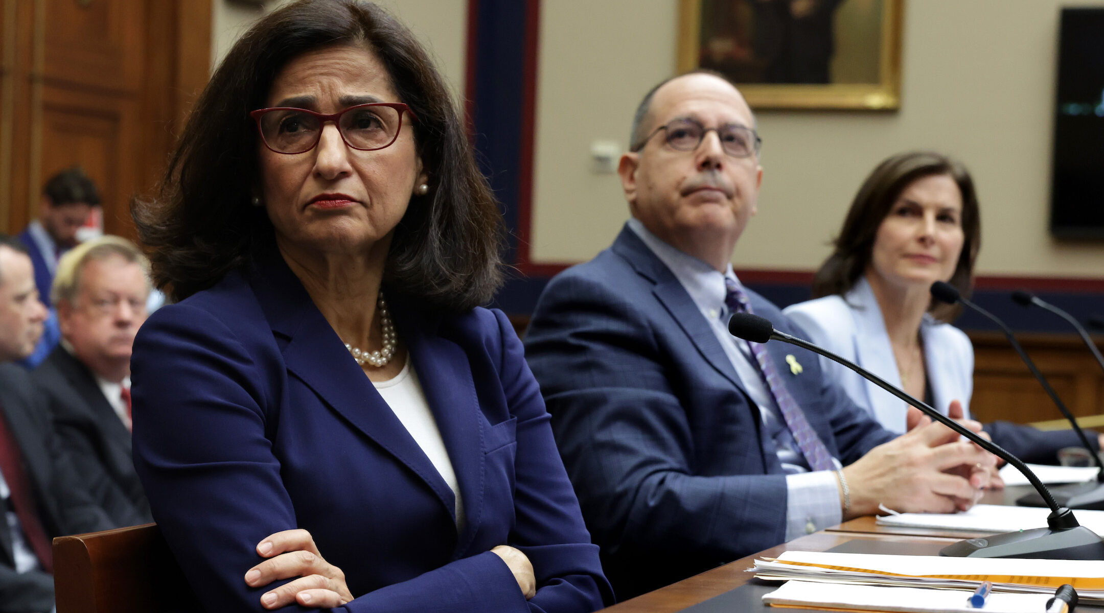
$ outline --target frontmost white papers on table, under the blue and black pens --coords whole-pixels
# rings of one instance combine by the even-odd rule
[[[954,611],[978,613],[968,599],[970,590],[927,590],[924,588],[883,588],[850,583],[787,581],[765,594],[763,602],[774,606],[799,606],[829,611],[902,611],[926,613]],[[989,594],[985,613],[1042,613],[1052,594]]]

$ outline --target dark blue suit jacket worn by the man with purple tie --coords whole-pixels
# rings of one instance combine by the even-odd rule
[[[756,313],[802,335],[749,295]],[[845,465],[893,438],[821,376],[816,355],[768,347]],[[693,300],[633,230],[549,283],[526,357],[618,598],[785,540],[786,477],[758,409]]]

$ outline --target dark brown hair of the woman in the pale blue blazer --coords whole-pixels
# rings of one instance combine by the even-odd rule
[[[974,261],[981,246],[981,218],[977,205],[974,180],[962,163],[931,151],[900,153],[878,164],[859,187],[851,208],[843,219],[843,227],[834,240],[835,249],[813,277],[813,297],[846,294],[854,287],[870,264],[874,237],[879,226],[889,215],[893,203],[910,183],[933,175],[949,176],[958,184],[963,197],[962,226],[965,241],[958,264],[949,283],[964,297],[970,295],[974,282]],[[960,306],[932,302],[928,312],[938,321],[949,322],[958,316]]]

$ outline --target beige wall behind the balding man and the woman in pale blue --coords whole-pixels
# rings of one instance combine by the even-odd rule
[[[677,3],[543,2],[534,260],[588,259],[627,217],[617,176],[591,171],[591,141],[627,146],[639,97],[675,69]],[[1104,246],[1060,244],[1047,232],[1058,14],[1072,3],[906,0],[899,111],[760,114],[760,213],[736,266],[816,268],[874,164],[932,148],[974,173],[979,272],[1104,277]]]

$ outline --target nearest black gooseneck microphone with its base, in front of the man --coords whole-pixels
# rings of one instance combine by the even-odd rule
[[[928,417],[951,428],[955,432],[966,437],[981,449],[997,455],[1009,464],[1016,466],[1023,476],[1031,482],[1031,485],[1039,492],[1047,506],[1050,507],[1050,515],[1047,516],[1047,528],[1032,528],[1030,530],[1019,530],[1005,533],[986,538],[972,538],[949,545],[940,551],[941,556],[970,557],[970,558],[1042,558],[1052,560],[1104,560],[1104,541],[1095,533],[1078,523],[1073,512],[1065,507],[1059,507],[1058,503],[1047,491],[1047,487],[1039,481],[1027,465],[1011,453],[1005,451],[1000,445],[977,435],[969,429],[963,427],[957,421],[944,416],[940,411],[928,407],[926,404],[909,396],[904,391],[885,383],[884,379],[868,372],[858,364],[843,359],[828,349],[814,345],[808,341],[803,341],[796,336],[790,336],[785,332],[775,330],[769,320],[751,313],[735,313],[729,320],[729,333],[739,338],[752,343],[763,343],[766,341],[782,341],[790,345],[797,345],[804,349],[822,355],[828,359],[838,362],[843,366],[854,370],[867,380],[878,387],[896,396],[901,400],[924,411]],[[746,334],[746,336],[744,336]]]

